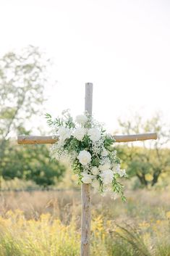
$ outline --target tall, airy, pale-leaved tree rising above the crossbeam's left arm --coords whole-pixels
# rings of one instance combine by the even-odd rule
[[[9,136],[22,131],[24,120],[44,102],[47,62],[34,46],[20,53],[9,52],[0,59],[0,158]]]

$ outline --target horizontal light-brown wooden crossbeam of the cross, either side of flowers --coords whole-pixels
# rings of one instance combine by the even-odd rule
[[[132,135],[115,135],[116,142],[128,141],[146,141],[148,139],[157,139],[156,133],[141,133]],[[18,144],[54,144],[58,139],[53,139],[52,136],[26,136],[19,135],[17,137]]]

